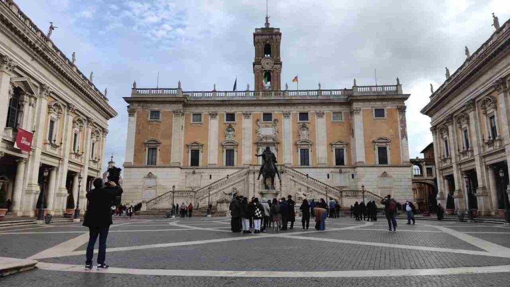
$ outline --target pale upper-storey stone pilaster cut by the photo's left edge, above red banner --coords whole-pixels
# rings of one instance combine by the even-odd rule
[[[4,133],[5,123],[7,123],[7,111],[9,106],[9,98],[11,89],[11,77],[14,75],[16,63],[8,57],[4,56],[0,60],[0,134]]]

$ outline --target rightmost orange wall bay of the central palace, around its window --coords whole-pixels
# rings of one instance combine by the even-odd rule
[[[365,162],[375,164],[373,140],[387,137],[391,140],[391,164],[402,163],[400,158],[400,139],[398,137],[398,110],[387,108],[385,119],[375,119],[372,109],[363,109],[363,129],[365,136]]]

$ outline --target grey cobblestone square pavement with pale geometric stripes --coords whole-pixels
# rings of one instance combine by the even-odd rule
[[[510,228],[501,225],[328,219],[325,231],[230,232],[225,218],[117,220],[109,270],[84,270],[80,224],[0,229],[1,256],[37,269],[5,286],[510,286]]]

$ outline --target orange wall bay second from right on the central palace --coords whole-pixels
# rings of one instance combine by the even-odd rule
[[[343,122],[331,122],[333,119],[333,113],[326,112],[326,127],[327,127],[327,133],[326,133],[326,144],[327,144],[327,158],[328,158],[328,164],[329,165],[335,165],[335,154],[333,154],[333,151],[331,151],[331,143],[342,140],[347,142],[347,150],[345,151],[345,154],[347,155],[347,159],[345,161],[345,164],[350,165],[352,164],[352,156],[351,156],[351,145],[350,145],[350,137],[351,137],[351,131],[352,131],[352,122],[350,118],[349,112],[344,111],[344,121]]]

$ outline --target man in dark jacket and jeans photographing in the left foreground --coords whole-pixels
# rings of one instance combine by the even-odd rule
[[[83,220],[83,225],[89,228],[89,244],[87,245],[87,261],[85,261],[85,270],[92,269],[92,258],[94,255],[94,245],[99,236],[99,252],[97,254],[97,270],[108,268],[105,264],[106,259],[106,238],[108,230],[112,224],[111,207],[116,197],[122,194],[122,188],[115,182],[107,182],[103,185],[103,179],[94,179],[94,189],[87,193],[87,212]]]

